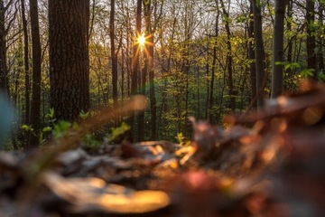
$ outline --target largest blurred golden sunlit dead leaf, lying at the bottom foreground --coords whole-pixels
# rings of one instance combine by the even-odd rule
[[[132,191],[99,178],[64,178],[54,173],[43,175],[43,182],[52,192],[73,204],[78,212],[117,213],[153,212],[170,203],[162,191]]]

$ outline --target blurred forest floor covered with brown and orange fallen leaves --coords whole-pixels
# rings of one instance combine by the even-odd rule
[[[190,118],[193,139],[0,153],[0,216],[325,216],[325,88]]]

